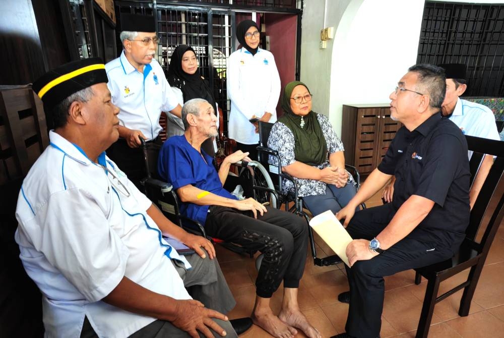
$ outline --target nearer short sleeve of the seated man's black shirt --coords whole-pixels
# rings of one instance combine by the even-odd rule
[[[443,146],[440,147],[439,145]],[[414,195],[425,197],[442,206],[448,190],[463,167],[462,160],[467,161],[461,141],[454,135],[441,134],[433,137],[427,149],[422,173],[418,179]]]

